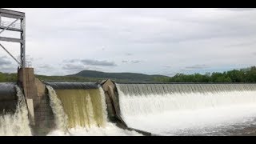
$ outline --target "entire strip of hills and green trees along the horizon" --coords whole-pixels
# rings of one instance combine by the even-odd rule
[[[42,81],[58,82],[102,82],[110,78],[114,82],[256,82],[256,66],[223,73],[176,74],[173,77],[138,73],[105,73],[95,70],[83,70],[78,74],[66,76],[46,76],[35,74]],[[17,82],[17,74],[0,72],[0,82]]]

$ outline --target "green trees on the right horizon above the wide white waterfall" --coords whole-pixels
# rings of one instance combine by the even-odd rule
[[[175,74],[170,78],[156,78],[158,82],[256,82],[256,66],[223,73]]]

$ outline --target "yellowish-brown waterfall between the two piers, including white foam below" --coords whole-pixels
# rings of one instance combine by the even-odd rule
[[[102,88],[54,90],[46,87],[57,124],[56,130],[47,135],[142,135],[108,122]]]

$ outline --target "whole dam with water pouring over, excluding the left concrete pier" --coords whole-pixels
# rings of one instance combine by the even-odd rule
[[[1,102],[10,103],[1,105],[1,135],[243,135],[256,130],[253,83],[42,83],[50,107],[40,113],[44,120],[35,114],[35,123],[48,122],[42,126],[31,126],[22,90],[0,83]]]

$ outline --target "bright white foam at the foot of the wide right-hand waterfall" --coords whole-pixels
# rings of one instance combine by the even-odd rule
[[[128,126],[162,135],[230,135],[226,130],[256,124],[256,106],[229,106],[204,110],[166,111],[124,117]]]

